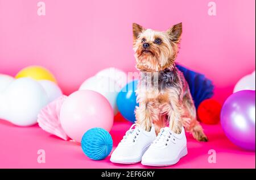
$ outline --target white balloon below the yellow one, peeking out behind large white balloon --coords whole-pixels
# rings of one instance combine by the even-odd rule
[[[63,95],[60,87],[57,86],[55,82],[48,80],[40,80],[38,82],[40,83],[40,85],[43,86],[44,90],[46,90],[48,96],[48,103],[54,101],[55,99]]]

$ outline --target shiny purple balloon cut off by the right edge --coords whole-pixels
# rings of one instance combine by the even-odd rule
[[[255,91],[230,95],[221,110],[221,125],[230,141],[255,151]]]

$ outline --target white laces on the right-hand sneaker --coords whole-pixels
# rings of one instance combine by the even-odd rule
[[[171,131],[168,131],[164,128],[160,129],[160,132],[158,133],[158,136],[156,139],[153,141],[152,144],[155,145],[168,145],[168,143],[172,141],[175,143],[175,137]]]

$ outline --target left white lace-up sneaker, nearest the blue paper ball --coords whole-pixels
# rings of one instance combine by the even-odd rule
[[[136,127],[133,129],[135,125]],[[152,125],[150,132],[147,132],[141,129],[138,124],[133,124],[115,148],[110,161],[121,164],[140,162],[144,152],[155,139],[154,125]]]

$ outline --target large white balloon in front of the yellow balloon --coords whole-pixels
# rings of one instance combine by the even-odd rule
[[[47,103],[47,93],[38,81],[16,79],[0,95],[0,119],[20,126],[36,124],[40,110]]]

